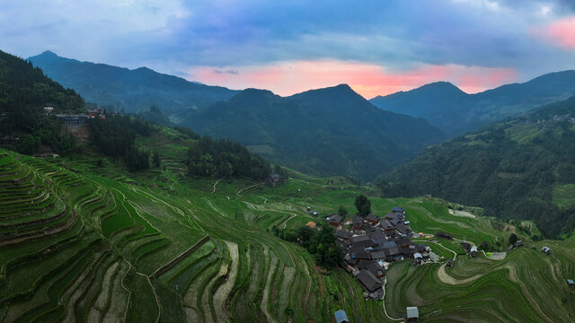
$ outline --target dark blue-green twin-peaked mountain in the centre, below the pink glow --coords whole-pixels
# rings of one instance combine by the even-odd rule
[[[371,180],[445,136],[421,118],[376,109],[348,85],[282,98],[248,89],[183,122],[314,175]]]

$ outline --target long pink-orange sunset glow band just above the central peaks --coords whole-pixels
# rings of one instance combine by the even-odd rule
[[[226,72],[225,72],[226,71]],[[281,96],[348,83],[366,99],[408,91],[426,83],[447,81],[464,92],[475,93],[517,81],[513,68],[464,65],[420,65],[405,71],[387,72],[379,65],[335,60],[279,62],[217,68],[199,66],[189,70],[190,79],[232,89],[268,89]]]

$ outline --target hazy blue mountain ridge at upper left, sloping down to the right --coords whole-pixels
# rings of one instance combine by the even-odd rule
[[[168,115],[186,109],[206,107],[217,100],[226,100],[237,91],[220,86],[209,86],[160,74],[147,67],[128,68],[80,62],[58,57],[45,51],[29,57],[50,78],[65,87],[75,89],[87,102],[97,103],[126,112],[147,110],[151,105],[161,107]]]

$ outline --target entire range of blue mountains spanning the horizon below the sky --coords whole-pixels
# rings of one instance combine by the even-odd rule
[[[430,144],[575,95],[575,71],[476,94],[447,82],[430,83],[367,101],[345,84],[280,97],[52,52],[29,60],[87,101],[112,106],[120,101],[127,111],[140,112],[157,105],[174,123],[238,141],[271,162],[312,175],[364,180],[407,162]]]

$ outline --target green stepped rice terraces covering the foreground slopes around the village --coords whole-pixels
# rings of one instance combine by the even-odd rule
[[[403,320],[407,306],[422,322],[575,321],[572,238],[471,258],[460,240],[503,250],[509,231],[436,198],[370,197],[379,215],[403,206],[440,259],[392,264],[384,299],[366,300],[353,276],[315,266],[270,230],[321,222],[340,205],[352,212],[370,188],[296,172],[277,188],[191,179],[177,162],[185,151],[172,151],[165,170],[129,174],[0,150],[0,321],[332,322],[343,309],[375,323]],[[456,240],[424,238],[437,231]]]

